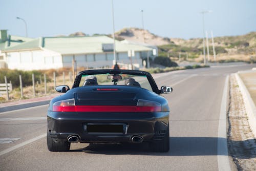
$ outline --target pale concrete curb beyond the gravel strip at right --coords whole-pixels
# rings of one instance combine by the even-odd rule
[[[238,75],[238,73],[236,73],[235,76],[237,78],[238,86],[239,86],[239,89],[240,89],[243,99],[244,99],[245,110],[246,110],[246,114],[248,116],[248,122],[249,122],[249,125],[251,128],[251,131],[254,135],[254,138],[256,138],[256,107],[255,107],[255,104],[252,101],[251,96],[250,96],[248,90],[246,89],[244,82]]]

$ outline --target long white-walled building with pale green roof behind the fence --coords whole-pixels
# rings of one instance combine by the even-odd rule
[[[133,63],[142,66],[142,53],[152,52],[152,48],[124,44],[118,40],[116,60],[131,63],[127,51],[134,50]],[[108,36],[82,37],[39,37],[2,50],[6,55],[9,69],[45,70],[72,67],[111,68],[113,66],[113,39]]]

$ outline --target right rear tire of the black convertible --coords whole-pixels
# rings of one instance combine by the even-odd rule
[[[150,148],[153,152],[168,152],[169,151],[169,124],[162,140],[150,142]]]

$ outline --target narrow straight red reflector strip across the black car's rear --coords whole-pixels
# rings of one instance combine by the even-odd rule
[[[54,112],[161,112],[161,106],[75,105],[53,106]]]

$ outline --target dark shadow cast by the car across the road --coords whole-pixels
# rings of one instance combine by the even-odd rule
[[[220,138],[220,141],[226,141]],[[243,143],[243,142],[237,142]],[[167,153],[151,152],[148,143],[132,144],[90,144],[71,152],[104,155],[146,155],[146,156],[217,156],[226,155],[217,149],[218,137],[170,137],[170,150]],[[240,158],[254,158],[256,153]]]

